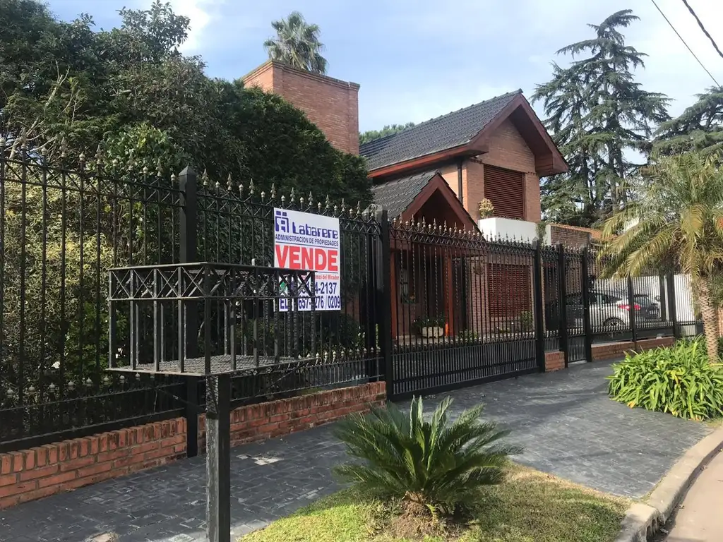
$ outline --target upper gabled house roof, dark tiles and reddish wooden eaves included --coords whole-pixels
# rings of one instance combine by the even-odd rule
[[[522,90],[503,94],[361,145],[369,176],[384,178],[436,167],[441,160],[488,152],[489,137],[510,119],[535,155],[540,176],[568,171],[560,150]]]

